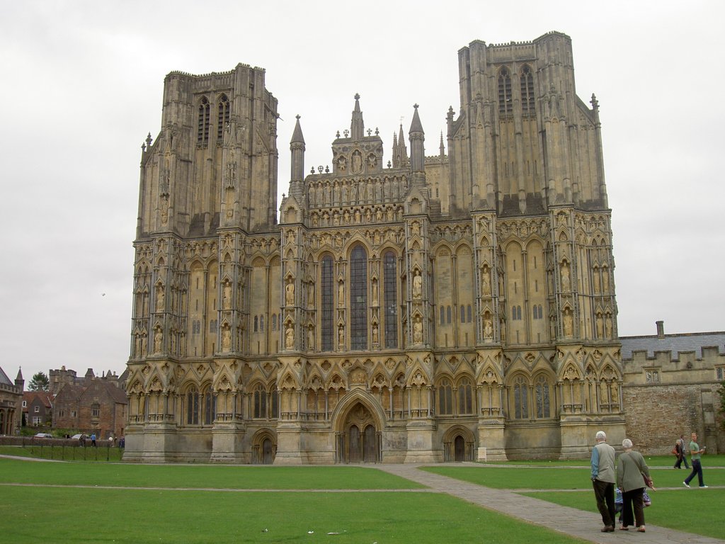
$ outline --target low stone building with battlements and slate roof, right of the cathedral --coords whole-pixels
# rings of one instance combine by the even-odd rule
[[[627,434],[639,450],[670,453],[697,432],[708,452],[725,451],[718,394],[725,380],[725,331],[620,337]]]

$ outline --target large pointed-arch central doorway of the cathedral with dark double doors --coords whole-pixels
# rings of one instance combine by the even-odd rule
[[[343,432],[337,440],[341,463],[378,463],[381,461],[380,433],[368,408],[357,403],[347,413]]]

